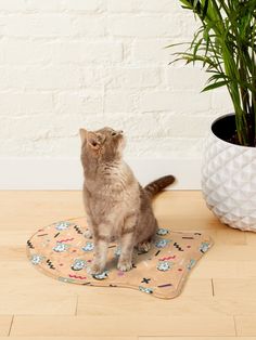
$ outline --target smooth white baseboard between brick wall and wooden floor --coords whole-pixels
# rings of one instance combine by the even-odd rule
[[[127,159],[142,185],[174,174],[172,189],[201,188],[201,159]],[[1,158],[0,189],[81,189],[77,158]]]

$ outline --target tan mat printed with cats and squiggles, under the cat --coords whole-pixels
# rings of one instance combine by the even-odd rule
[[[133,269],[116,269],[120,249],[111,244],[105,272],[91,276],[92,239],[86,237],[85,218],[56,222],[39,228],[27,241],[27,254],[35,267],[61,282],[85,286],[128,287],[156,298],[177,297],[202,256],[213,245],[201,233],[159,228],[148,253],[135,250]]]

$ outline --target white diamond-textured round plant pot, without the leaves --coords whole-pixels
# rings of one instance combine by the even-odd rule
[[[223,141],[234,129],[234,115],[212,125],[203,155],[202,191],[222,223],[256,232],[256,147]]]

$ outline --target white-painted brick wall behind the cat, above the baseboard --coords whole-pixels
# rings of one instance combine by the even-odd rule
[[[124,129],[128,157],[200,157],[232,106],[168,66],[194,27],[178,0],[0,0],[0,157],[77,157],[81,126]]]

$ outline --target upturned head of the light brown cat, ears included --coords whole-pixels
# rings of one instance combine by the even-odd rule
[[[81,157],[89,156],[98,161],[119,160],[125,147],[123,131],[103,128],[97,131],[80,129]]]

